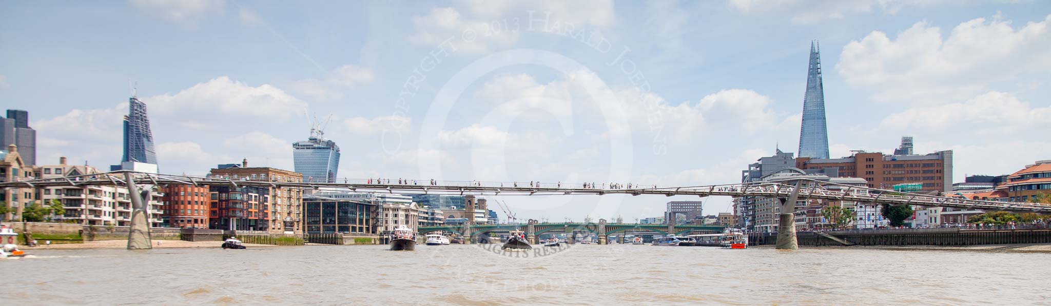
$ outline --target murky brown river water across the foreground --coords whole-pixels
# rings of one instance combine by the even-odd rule
[[[1051,255],[701,246],[34,250],[5,304],[1051,304]]]

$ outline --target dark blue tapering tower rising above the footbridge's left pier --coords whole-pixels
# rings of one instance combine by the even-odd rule
[[[124,156],[121,161],[137,161],[157,165],[153,150],[153,134],[149,131],[146,104],[131,96],[128,100],[128,114],[124,116]]]

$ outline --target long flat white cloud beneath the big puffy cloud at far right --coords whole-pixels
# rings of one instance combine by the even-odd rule
[[[1013,94],[992,91],[964,103],[918,107],[883,119],[887,128],[948,130],[970,127],[969,132],[1008,132],[1024,127],[1047,127],[1051,106],[1032,107]]]

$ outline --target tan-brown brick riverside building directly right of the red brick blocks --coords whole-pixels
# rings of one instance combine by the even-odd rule
[[[303,174],[273,169],[220,165],[210,177],[255,181],[303,181]],[[303,234],[303,191],[293,188],[211,187],[209,227],[262,231],[270,234]]]

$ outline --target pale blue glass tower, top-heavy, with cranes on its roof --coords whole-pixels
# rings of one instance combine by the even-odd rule
[[[295,172],[303,174],[303,181],[335,182],[336,170],[339,169],[339,146],[325,140],[321,133],[311,133],[306,141],[292,144],[292,161],[295,162]]]

